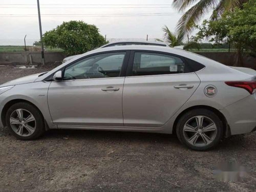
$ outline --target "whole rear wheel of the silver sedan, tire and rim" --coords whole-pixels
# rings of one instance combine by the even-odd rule
[[[223,125],[214,112],[196,109],[188,111],[179,119],[176,132],[181,143],[187,147],[205,151],[220,142]]]

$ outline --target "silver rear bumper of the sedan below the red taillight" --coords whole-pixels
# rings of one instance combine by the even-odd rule
[[[256,93],[221,109],[231,135],[256,131]]]

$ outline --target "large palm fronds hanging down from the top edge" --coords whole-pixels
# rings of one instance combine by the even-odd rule
[[[186,11],[179,19],[177,31],[189,33],[194,26],[200,22],[200,19],[210,10],[214,10],[211,19],[218,19],[225,11],[233,11],[236,7],[242,7],[243,3],[250,0],[174,0],[173,6],[179,12],[183,12],[190,5],[197,2],[196,5]]]

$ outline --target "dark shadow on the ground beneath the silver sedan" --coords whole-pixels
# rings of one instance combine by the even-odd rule
[[[0,136],[12,137],[8,129],[1,128]],[[14,137],[13,137],[14,138]],[[176,135],[159,134],[159,133],[143,133],[143,132],[120,132],[120,131],[99,131],[99,130],[49,130],[39,140],[69,139],[76,141],[97,141],[97,142],[132,142],[141,144],[158,143],[169,145],[172,147],[183,148]],[[211,151],[236,151],[241,148],[253,147],[247,142],[245,135],[234,135],[223,139],[217,147]],[[256,145],[256,144],[255,144]],[[255,147],[254,145],[254,147]],[[190,150],[189,150],[190,151]]]

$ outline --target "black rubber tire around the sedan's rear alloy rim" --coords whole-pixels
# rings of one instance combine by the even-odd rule
[[[206,118],[204,118],[204,119],[206,119],[206,121],[208,120],[207,118],[209,118],[216,125],[215,126],[216,131],[212,131],[213,133],[205,132],[205,133],[214,134],[214,136],[215,136],[210,140],[209,144],[206,144],[207,142],[204,143],[204,139],[201,134],[203,133],[205,135],[205,133],[202,132],[202,130],[200,130],[200,132],[202,132],[202,133],[190,132],[192,135],[191,138],[194,136],[194,134],[197,134],[198,138],[203,141],[201,145],[205,144],[205,146],[198,146],[198,145],[200,145],[200,143],[199,144],[189,143],[188,142],[189,138],[186,135],[186,133],[189,133],[189,132],[183,131],[185,123],[189,122],[190,119],[192,119],[191,121],[193,121],[193,118],[195,118],[196,116],[204,116],[204,117],[206,117]],[[195,126],[193,126],[193,127],[195,127]],[[197,127],[198,126],[196,126],[196,128]],[[202,129],[202,128],[200,127],[200,129]],[[198,129],[196,129],[196,130],[198,130]],[[187,146],[188,148],[190,148],[191,150],[206,151],[206,150],[209,150],[209,149],[215,147],[220,142],[220,140],[222,138],[222,133],[223,133],[223,124],[222,124],[221,119],[214,112],[207,110],[207,109],[195,109],[195,110],[188,111],[184,115],[181,116],[181,118],[178,120],[178,123],[177,123],[176,133],[177,133],[177,136],[178,136],[180,142],[182,144],[184,144],[185,146]]]

